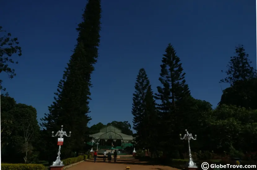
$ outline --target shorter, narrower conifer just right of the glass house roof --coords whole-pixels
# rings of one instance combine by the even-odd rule
[[[154,128],[158,120],[150,81],[143,68],[139,70],[135,83],[132,114],[134,116],[133,129],[137,131],[135,134],[137,145],[151,148],[151,140],[157,133]]]

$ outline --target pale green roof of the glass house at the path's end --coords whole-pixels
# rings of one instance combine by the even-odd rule
[[[100,129],[99,133],[91,134],[90,137],[94,139],[121,139],[121,140],[133,140],[133,136],[121,133],[121,130],[115,126],[109,125]]]

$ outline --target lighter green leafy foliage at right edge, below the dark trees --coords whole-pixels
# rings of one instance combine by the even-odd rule
[[[244,151],[255,148],[257,110],[223,104],[208,115],[204,123],[208,134],[204,141],[209,143],[208,150],[230,152],[231,147]]]

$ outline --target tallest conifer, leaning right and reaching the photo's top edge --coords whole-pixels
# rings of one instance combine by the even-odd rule
[[[41,125],[47,131],[58,131],[61,125],[64,130],[72,131],[72,137],[64,141],[62,159],[74,156],[83,150],[84,142],[89,140],[89,128],[87,126],[91,118],[88,116],[91,73],[98,58],[98,46],[100,42],[100,0],[88,0],[83,21],[78,25],[79,36],[74,53],[65,68],[63,79],[58,84],[54,93],[53,104],[49,107],[49,113],[41,120]],[[49,148],[56,145],[56,140],[50,140]],[[53,153],[54,154],[54,153]],[[56,153],[55,153],[56,155]],[[56,157],[56,156],[55,156]]]

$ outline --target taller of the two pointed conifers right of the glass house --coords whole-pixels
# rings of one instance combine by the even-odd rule
[[[166,54],[162,58],[161,77],[159,78],[163,86],[157,87],[158,93],[155,94],[155,98],[160,100],[158,109],[162,131],[159,133],[159,138],[163,139],[163,143],[160,144],[164,148],[169,147],[171,149],[172,145],[174,147],[176,144],[177,131],[180,125],[179,103],[190,96],[190,91],[185,83],[185,73],[183,73],[180,58],[176,55],[173,46],[168,44],[165,52]],[[167,150],[167,152],[169,151]]]

